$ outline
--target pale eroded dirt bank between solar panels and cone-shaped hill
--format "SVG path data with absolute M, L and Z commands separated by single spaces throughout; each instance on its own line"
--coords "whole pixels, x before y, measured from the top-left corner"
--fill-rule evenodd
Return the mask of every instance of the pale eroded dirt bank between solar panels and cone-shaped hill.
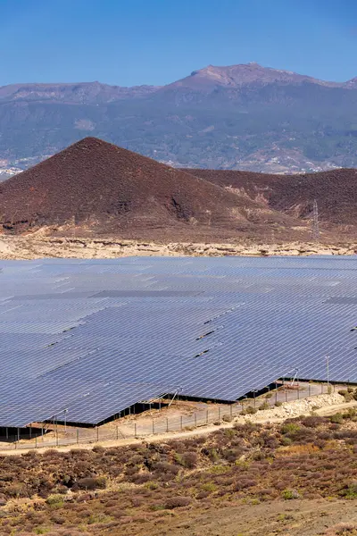
M 193 242 L 144 242 L 115 238 L 87 239 L 76 236 L 54 238 L 46 236 L 46 230 L 27 236 L 0 238 L 1 259 L 58 258 L 116 258 L 130 255 L 353 255 L 357 243 L 193 243 Z

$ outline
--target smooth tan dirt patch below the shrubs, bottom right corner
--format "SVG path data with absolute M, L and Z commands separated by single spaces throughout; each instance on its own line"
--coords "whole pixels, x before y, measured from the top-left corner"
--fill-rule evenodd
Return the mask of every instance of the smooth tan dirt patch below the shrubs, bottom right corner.
M 357 508 L 351 501 L 284 500 L 251 504 L 241 502 L 216 508 L 191 510 L 161 522 L 145 524 L 151 536 L 317 536 L 342 532 L 357 522 Z M 341 532 L 338 532 L 341 531 Z M 129 532 L 132 534 L 132 532 Z M 144 532 L 137 532 L 144 534 Z

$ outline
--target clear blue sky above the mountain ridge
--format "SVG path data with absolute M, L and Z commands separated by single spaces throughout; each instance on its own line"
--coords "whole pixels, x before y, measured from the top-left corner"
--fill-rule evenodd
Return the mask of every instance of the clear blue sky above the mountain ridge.
M 0 0 L 0 85 L 162 85 L 210 63 L 357 76 L 357 0 Z

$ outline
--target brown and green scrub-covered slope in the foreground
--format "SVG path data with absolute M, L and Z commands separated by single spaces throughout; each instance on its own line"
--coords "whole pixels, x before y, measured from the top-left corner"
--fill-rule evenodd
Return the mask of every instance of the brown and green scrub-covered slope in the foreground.
M 200 512 L 317 498 L 342 505 L 357 498 L 356 422 L 350 409 L 163 444 L 2 456 L 0 533 L 195 534 Z M 262 534 L 252 527 L 242 534 Z

